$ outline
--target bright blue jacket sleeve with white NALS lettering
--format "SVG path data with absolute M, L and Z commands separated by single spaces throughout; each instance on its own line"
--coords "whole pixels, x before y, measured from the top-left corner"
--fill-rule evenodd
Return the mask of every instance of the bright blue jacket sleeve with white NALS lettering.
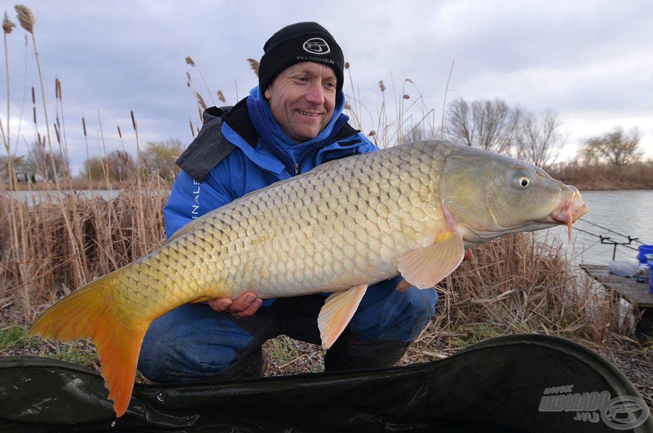
M 232 200 L 231 194 L 222 184 L 197 182 L 183 170 L 180 171 L 172 185 L 170 198 L 163 208 L 166 237 L 172 236 L 190 220 L 199 218 Z

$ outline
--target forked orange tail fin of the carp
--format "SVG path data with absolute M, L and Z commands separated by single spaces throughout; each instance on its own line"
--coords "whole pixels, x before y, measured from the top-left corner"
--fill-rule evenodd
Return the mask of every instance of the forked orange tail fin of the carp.
M 129 406 L 138 353 L 148 324 L 128 326 L 116 317 L 118 312 L 110 297 L 112 281 L 112 274 L 105 275 L 59 300 L 35 320 L 29 335 L 59 341 L 92 338 L 104 386 L 119 417 Z

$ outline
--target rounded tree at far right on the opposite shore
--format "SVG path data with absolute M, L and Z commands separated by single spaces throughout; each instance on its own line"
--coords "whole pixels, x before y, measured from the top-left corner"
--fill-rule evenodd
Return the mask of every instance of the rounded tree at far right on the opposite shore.
M 586 139 L 578 157 L 584 164 L 609 164 L 620 170 L 624 165 L 641 159 L 644 154 L 639 149 L 641 138 L 638 128 L 626 133 L 622 126 L 616 126 L 611 132 Z

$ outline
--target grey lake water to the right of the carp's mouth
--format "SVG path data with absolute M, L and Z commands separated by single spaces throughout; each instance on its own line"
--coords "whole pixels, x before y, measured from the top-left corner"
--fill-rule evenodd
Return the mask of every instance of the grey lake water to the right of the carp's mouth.
M 640 242 L 653 244 L 653 190 L 586 191 L 583 201 L 590 211 L 573 224 L 571 243 L 567 228 L 556 227 L 537 234 L 538 239 L 558 237 L 572 264 L 607 265 L 610 260 L 637 263 Z M 601 243 L 599 236 L 629 246 Z

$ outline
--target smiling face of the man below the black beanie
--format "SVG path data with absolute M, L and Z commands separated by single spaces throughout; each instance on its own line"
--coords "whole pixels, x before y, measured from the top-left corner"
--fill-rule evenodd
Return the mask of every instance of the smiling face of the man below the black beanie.
M 304 61 L 287 67 L 265 90 L 272 116 L 295 143 L 315 138 L 336 106 L 336 74 L 327 65 Z

